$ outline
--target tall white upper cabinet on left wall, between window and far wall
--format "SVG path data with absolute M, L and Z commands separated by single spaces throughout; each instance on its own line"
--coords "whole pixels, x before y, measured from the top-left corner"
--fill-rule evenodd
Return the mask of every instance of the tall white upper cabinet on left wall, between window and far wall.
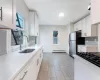
M 39 36 L 39 19 L 36 12 L 29 12 L 30 16 L 30 28 L 29 28 L 29 35 L 30 36 Z

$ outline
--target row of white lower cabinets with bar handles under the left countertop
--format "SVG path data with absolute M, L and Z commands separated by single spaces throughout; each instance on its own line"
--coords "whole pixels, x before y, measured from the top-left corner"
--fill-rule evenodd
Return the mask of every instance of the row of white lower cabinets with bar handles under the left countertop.
M 15 77 L 14 80 L 36 80 L 40 65 L 43 59 L 42 49 L 39 50 L 36 55 L 29 61 L 24 69 Z

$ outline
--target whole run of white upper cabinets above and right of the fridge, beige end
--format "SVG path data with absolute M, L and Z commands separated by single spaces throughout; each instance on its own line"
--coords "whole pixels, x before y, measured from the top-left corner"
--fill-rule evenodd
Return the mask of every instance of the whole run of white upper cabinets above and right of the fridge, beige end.
M 84 19 L 74 24 L 74 31 L 82 30 L 82 37 L 97 36 L 97 26 L 91 25 L 91 16 L 87 16 Z

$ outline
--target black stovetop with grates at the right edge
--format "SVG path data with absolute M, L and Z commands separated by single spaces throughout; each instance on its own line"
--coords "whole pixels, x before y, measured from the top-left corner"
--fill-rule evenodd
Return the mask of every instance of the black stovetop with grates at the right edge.
M 100 53 L 98 52 L 78 52 L 78 56 L 100 67 Z

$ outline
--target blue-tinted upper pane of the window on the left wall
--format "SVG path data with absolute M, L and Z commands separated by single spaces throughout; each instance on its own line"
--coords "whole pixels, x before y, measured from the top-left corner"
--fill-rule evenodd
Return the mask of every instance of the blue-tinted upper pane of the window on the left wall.
M 16 13 L 16 26 L 24 28 L 24 18 L 19 13 Z

